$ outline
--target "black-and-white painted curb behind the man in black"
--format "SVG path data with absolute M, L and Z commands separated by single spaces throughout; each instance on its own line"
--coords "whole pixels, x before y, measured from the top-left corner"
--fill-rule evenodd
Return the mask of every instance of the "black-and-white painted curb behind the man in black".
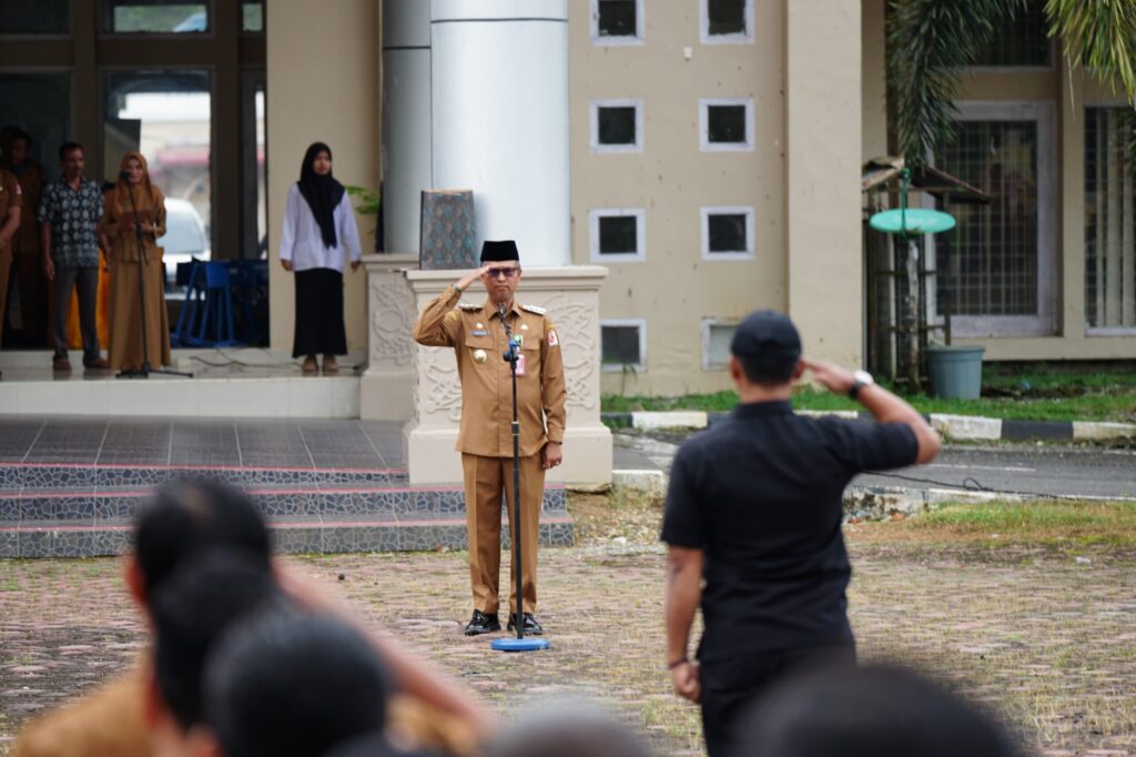
M 854 410 L 801 410 L 811 417 L 867 418 Z M 615 429 L 705 429 L 728 413 L 603 413 L 602 419 Z M 933 413 L 930 424 L 953 441 L 1136 441 L 1136 423 L 1083 421 L 1012 421 L 971 415 Z

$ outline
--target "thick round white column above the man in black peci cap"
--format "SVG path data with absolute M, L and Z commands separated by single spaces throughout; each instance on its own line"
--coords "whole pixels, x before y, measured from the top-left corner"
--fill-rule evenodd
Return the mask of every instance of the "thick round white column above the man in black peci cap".
M 474 190 L 478 247 L 568 265 L 567 0 L 432 0 L 431 101 L 433 186 Z

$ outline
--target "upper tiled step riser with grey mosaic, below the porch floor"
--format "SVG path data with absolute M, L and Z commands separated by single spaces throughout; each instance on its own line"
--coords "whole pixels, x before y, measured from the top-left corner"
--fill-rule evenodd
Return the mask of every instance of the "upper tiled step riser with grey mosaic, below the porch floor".
M 152 490 L 176 479 L 216 479 L 244 489 L 406 485 L 400 468 L 314 468 L 200 465 L 0 463 L 0 496 L 9 492 Z

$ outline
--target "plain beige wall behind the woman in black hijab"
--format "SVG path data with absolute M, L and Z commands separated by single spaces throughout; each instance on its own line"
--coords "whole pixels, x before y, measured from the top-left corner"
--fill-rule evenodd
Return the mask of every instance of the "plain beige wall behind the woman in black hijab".
M 335 0 L 335 13 L 309 0 L 273 0 L 267 34 L 268 258 L 272 348 L 292 349 L 292 274 L 279 266 L 289 186 L 312 142 L 334 153 L 344 184 L 378 186 L 379 3 Z M 318 51 L 318 52 L 314 52 Z M 373 218 L 357 217 L 364 253 L 374 250 Z M 366 274 L 343 274 L 348 349 L 367 349 Z

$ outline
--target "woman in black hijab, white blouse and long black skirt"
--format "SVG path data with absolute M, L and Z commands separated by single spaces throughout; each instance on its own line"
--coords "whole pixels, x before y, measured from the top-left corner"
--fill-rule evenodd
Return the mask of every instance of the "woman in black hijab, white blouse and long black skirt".
M 335 373 L 336 355 L 348 351 L 343 326 L 343 265 L 351 271 L 360 261 L 359 231 L 343 184 L 332 175 L 332 149 L 323 142 L 308 148 L 300 181 L 291 186 L 281 265 L 295 272 L 295 339 L 292 357 L 303 356 L 303 372 L 317 371 L 316 356 L 324 356 L 324 373 Z

